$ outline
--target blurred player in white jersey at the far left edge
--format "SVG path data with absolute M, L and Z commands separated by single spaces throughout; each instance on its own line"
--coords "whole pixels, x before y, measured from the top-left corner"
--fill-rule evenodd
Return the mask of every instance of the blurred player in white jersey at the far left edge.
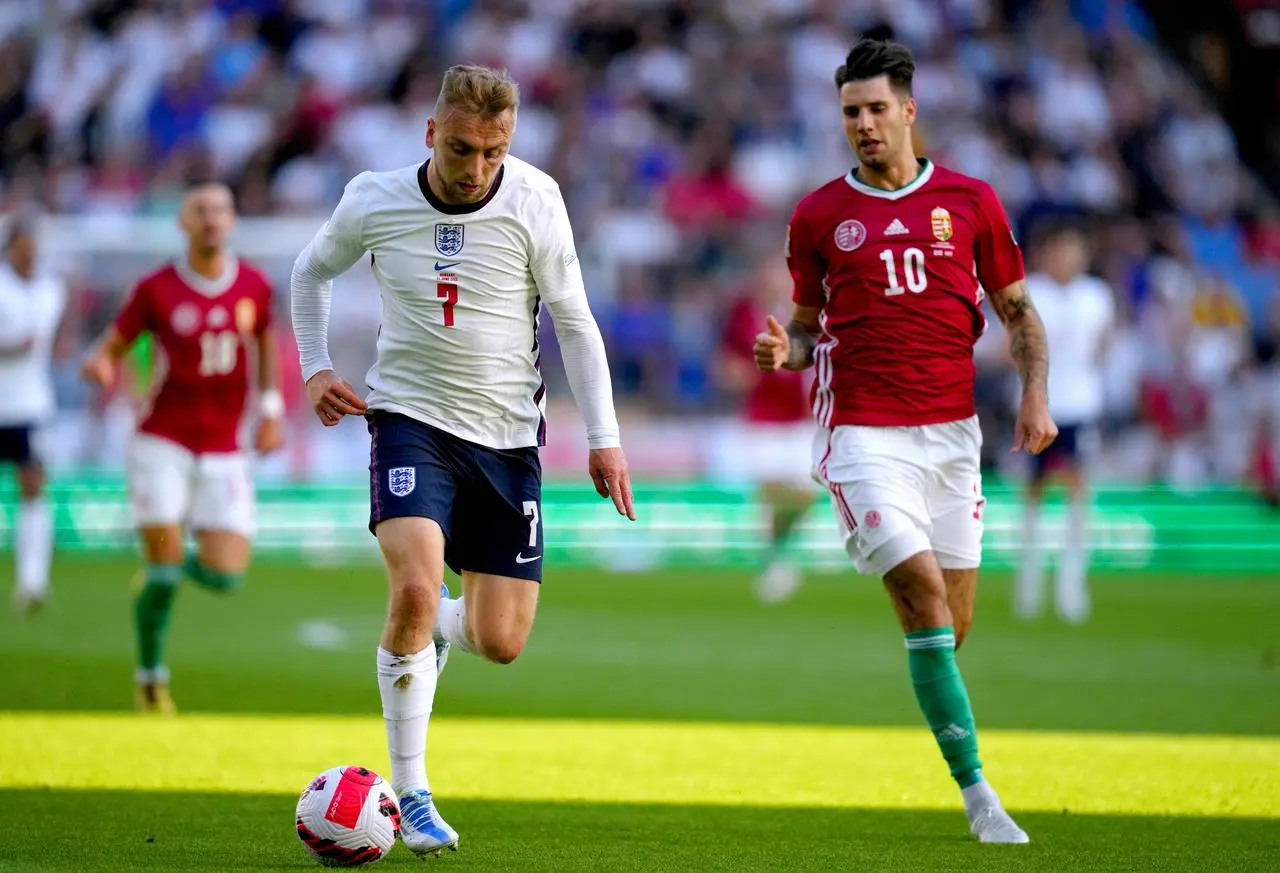
M 0 407 L 0 462 L 18 467 L 22 503 L 14 541 L 18 567 L 13 604 L 31 613 L 47 597 L 54 552 L 45 472 L 32 436 L 56 408 L 50 370 L 67 291 L 59 279 L 36 270 L 36 237 L 24 221 L 9 227 L 5 255 L 0 266 L 0 378 L 9 394 Z

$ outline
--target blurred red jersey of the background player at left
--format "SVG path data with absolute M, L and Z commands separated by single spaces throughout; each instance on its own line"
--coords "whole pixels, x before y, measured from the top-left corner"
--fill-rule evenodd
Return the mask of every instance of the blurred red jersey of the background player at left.
M 196 453 L 236 452 L 248 402 L 246 340 L 271 324 L 271 285 L 244 261 L 205 279 L 170 264 L 133 287 L 115 330 L 155 338 L 156 381 L 138 430 Z

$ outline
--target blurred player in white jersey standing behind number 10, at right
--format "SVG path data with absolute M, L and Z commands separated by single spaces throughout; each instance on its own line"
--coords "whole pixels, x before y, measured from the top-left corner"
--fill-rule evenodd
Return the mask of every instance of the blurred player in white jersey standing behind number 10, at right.
M 1115 326 L 1115 300 L 1105 282 L 1088 275 L 1089 250 L 1084 234 L 1070 223 L 1055 224 L 1043 236 L 1039 269 L 1027 278 L 1027 288 L 1039 307 L 1048 337 L 1053 369 L 1050 370 L 1050 412 L 1057 422 L 1057 440 L 1030 457 L 1027 515 L 1023 522 L 1023 557 L 1014 607 L 1023 618 L 1044 609 L 1044 544 L 1041 539 L 1041 503 L 1051 477 L 1068 486 L 1070 506 L 1062 553 L 1053 584 L 1053 605 L 1064 620 L 1079 623 L 1089 616 L 1087 470 L 1089 449 L 1097 444 L 1102 416 L 1102 364 Z

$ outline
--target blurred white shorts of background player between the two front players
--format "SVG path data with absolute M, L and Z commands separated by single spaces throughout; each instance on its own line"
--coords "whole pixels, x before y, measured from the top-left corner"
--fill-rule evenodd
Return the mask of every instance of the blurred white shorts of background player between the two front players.
M 813 430 L 800 424 L 724 425 L 709 440 L 708 467 L 730 484 L 813 488 Z

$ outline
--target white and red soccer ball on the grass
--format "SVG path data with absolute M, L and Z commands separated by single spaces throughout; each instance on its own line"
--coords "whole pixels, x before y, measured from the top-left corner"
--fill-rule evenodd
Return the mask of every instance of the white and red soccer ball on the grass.
M 364 767 L 334 767 L 298 797 L 298 838 L 325 867 L 372 864 L 396 845 L 399 804 L 392 786 Z

